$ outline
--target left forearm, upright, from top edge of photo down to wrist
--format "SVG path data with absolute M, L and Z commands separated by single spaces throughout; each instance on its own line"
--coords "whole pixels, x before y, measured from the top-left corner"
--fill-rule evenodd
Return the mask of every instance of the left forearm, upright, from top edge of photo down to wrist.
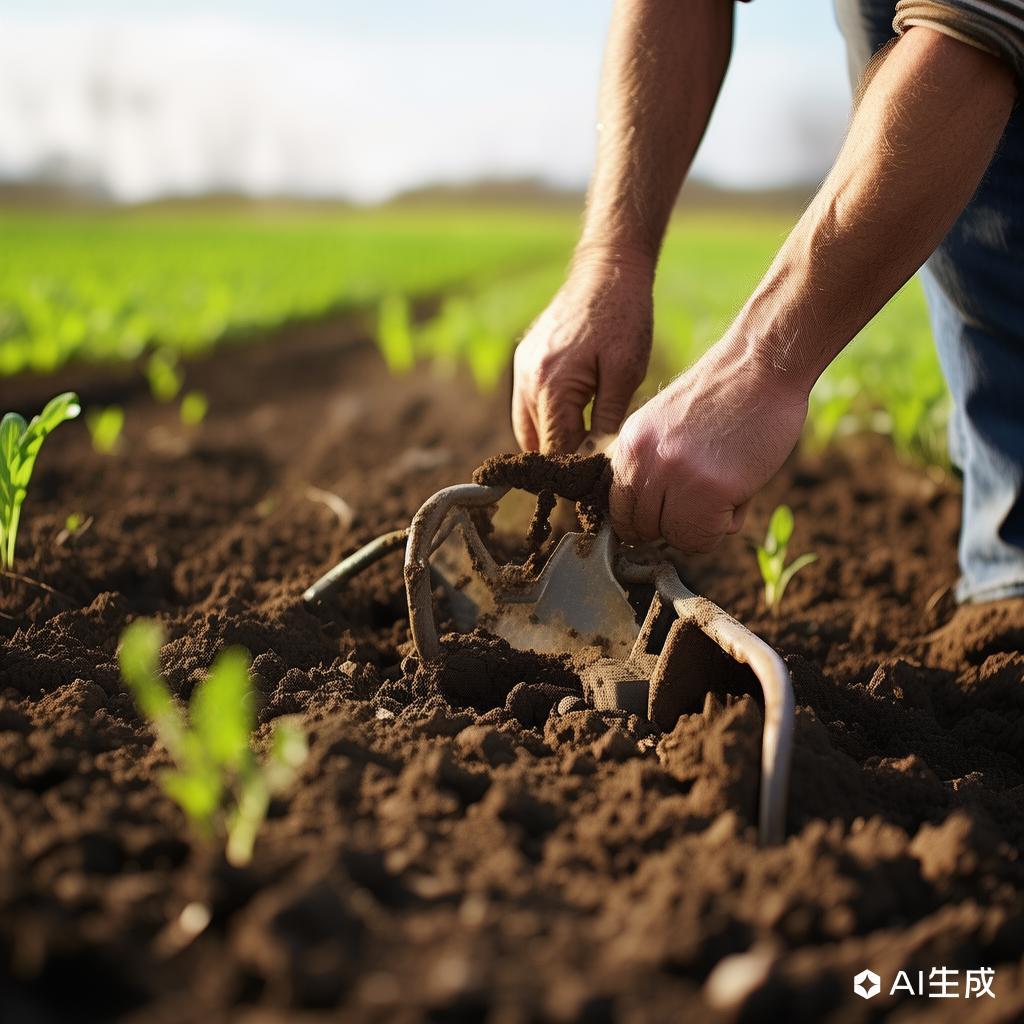
M 653 270 L 731 42 L 729 0 L 617 0 L 578 258 L 612 254 Z

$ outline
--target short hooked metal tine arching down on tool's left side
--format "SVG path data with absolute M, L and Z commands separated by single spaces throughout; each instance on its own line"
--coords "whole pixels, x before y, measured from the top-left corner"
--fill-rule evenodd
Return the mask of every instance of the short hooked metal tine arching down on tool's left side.
M 453 508 L 494 505 L 508 490 L 508 487 L 485 487 L 479 483 L 457 483 L 431 495 L 413 517 L 406 546 L 406 597 L 413 643 L 425 662 L 433 660 L 440 653 L 430 589 L 430 553 L 437 530 Z

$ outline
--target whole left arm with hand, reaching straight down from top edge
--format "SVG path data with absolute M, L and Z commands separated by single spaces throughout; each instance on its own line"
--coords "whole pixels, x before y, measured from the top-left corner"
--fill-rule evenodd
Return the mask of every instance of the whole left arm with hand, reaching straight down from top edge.
M 512 422 L 524 449 L 574 450 L 584 409 L 616 430 L 650 354 L 654 265 L 729 59 L 730 0 L 617 0 L 597 165 L 566 282 L 520 342 Z

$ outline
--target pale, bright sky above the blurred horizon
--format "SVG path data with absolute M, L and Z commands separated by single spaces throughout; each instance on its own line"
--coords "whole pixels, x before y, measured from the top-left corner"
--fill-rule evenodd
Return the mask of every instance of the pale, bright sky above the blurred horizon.
M 610 10 L 3 0 L 0 178 L 48 169 L 124 201 L 227 188 L 374 202 L 479 177 L 582 186 Z M 744 188 L 816 179 L 849 101 L 830 0 L 739 4 L 693 173 Z

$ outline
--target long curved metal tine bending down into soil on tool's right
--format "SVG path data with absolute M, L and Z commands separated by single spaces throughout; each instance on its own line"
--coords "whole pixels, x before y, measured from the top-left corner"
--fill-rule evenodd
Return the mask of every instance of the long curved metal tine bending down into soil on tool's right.
M 637 565 L 621 559 L 618 567 L 631 583 L 653 583 L 680 618 L 693 623 L 727 654 L 749 666 L 757 676 L 765 701 L 758 835 L 765 846 L 781 843 L 785 838 L 795 721 L 793 681 L 785 663 L 764 640 L 732 615 L 684 586 L 671 566 Z

